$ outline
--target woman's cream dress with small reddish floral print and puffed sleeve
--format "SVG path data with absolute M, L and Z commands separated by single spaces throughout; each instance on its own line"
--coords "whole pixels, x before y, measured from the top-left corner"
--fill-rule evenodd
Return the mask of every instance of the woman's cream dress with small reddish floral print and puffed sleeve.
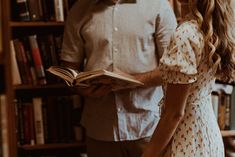
M 185 116 L 164 157 L 224 157 L 223 140 L 211 104 L 215 70 L 208 65 L 203 47 L 197 23 L 187 21 L 176 29 L 160 60 L 164 89 L 166 83 L 191 84 Z

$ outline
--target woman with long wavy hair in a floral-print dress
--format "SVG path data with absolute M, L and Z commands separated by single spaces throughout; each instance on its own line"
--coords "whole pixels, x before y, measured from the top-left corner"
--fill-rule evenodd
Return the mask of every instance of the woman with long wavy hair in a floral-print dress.
M 224 157 L 211 105 L 215 78 L 234 80 L 230 0 L 181 0 L 189 14 L 160 60 L 165 98 L 142 157 Z

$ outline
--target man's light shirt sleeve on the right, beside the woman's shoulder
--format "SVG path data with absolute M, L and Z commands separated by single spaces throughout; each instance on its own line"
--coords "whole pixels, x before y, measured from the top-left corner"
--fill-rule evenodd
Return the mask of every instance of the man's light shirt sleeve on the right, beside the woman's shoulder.
M 177 21 L 172 7 L 167 0 L 160 1 L 160 10 L 156 19 L 156 46 L 158 56 L 161 57 L 167 48 L 170 36 L 177 27 Z

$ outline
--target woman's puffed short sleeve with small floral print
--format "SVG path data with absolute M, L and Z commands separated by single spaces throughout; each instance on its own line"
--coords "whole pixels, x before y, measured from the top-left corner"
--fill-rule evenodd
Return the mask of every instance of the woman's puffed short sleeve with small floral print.
M 203 42 L 196 30 L 184 24 L 172 35 L 159 67 L 166 82 L 188 84 L 197 80 Z

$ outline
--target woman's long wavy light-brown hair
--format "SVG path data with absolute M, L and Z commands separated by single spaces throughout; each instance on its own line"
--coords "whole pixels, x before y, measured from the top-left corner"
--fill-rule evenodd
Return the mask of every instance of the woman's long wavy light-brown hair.
M 219 78 L 234 81 L 235 18 L 231 0 L 189 0 L 189 9 L 204 33 L 209 64 L 217 68 Z

